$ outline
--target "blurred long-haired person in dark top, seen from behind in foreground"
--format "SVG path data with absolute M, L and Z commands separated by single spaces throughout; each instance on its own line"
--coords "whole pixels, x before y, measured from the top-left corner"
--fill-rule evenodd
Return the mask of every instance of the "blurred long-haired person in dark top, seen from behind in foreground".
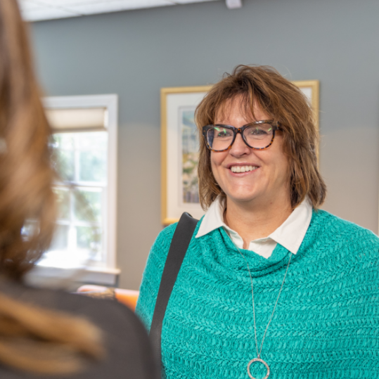
M 16 0 L 0 1 L 0 378 L 156 379 L 122 304 L 23 285 L 56 217 L 50 128 Z

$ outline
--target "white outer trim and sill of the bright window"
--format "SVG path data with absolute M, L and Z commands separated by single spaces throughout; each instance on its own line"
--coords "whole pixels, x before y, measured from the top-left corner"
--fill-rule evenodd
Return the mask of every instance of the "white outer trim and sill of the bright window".
M 89 267 L 76 281 L 84 283 L 99 283 L 117 285 L 120 269 L 116 267 L 117 238 L 117 119 L 118 96 L 116 94 L 88 96 L 51 96 L 43 98 L 44 108 L 75 109 L 75 108 L 105 108 L 105 130 L 108 131 L 108 189 L 107 189 L 107 228 L 105 266 Z M 75 131 L 75 129 L 72 129 Z M 32 283 L 43 283 L 44 278 L 67 276 L 66 269 L 58 267 L 36 266 L 32 272 Z M 39 277 L 39 278 L 37 278 Z

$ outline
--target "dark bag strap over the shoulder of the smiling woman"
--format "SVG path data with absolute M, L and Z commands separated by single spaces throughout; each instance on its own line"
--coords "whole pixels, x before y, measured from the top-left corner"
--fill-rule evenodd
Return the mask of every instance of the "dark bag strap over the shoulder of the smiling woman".
M 155 353 L 157 354 L 159 363 L 162 360 L 162 323 L 165 318 L 167 304 L 197 224 L 198 220 L 193 219 L 191 214 L 184 212 L 184 214 L 181 215 L 179 223 L 176 226 L 174 236 L 172 237 L 171 245 L 166 258 L 165 268 L 163 269 L 162 278 L 160 279 L 153 320 L 151 321 L 150 326 L 150 340 L 153 344 L 153 348 L 155 349 Z

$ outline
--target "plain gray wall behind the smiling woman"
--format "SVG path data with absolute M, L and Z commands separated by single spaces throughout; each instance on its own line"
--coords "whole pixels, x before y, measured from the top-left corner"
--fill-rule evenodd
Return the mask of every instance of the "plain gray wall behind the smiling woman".
M 49 96 L 120 96 L 117 264 L 138 289 L 160 225 L 160 87 L 217 82 L 239 64 L 321 82 L 324 209 L 378 231 L 379 1 L 245 0 L 32 25 Z M 149 136 L 149 139 L 146 138 Z

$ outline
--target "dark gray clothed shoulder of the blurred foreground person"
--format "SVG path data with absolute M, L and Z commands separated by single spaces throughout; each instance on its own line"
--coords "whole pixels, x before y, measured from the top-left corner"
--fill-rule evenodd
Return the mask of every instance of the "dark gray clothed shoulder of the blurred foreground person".
M 105 359 L 91 362 L 85 371 L 70 375 L 70 378 L 147 379 L 151 375 L 158 378 L 154 375 L 157 371 L 146 329 L 134 312 L 119 302 L 98 300 L 62 290 L 30 288 L 15 283 L 1 285 L 0 290 L 24 304 L 82 317 L 101 330 Z M 4 377 L 1 373 L 1 378 L 13 378 L 13 374 L 7 375 Z M 24 378 L 24 375 L 15 375 L 14 378 Z M 25 378 L 28 378 L 27 375 Z

